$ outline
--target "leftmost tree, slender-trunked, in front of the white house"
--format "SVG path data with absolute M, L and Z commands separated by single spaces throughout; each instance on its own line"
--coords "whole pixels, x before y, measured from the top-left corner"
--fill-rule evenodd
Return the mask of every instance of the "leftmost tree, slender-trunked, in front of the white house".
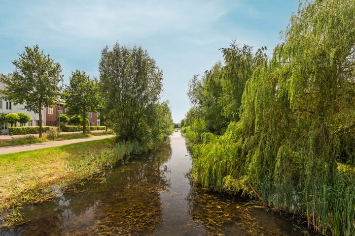
M 20 58 L 12 61 L 15 70 L 9 77 L 3 76 L 7 85 L 5 99 L 14 104 L 26 104 L 39 115 L 39 137 L 42 137 L 42 109 L 55 104 L 63 83 L 62 67 L 54 62 L 38 45 L 25 47 Z

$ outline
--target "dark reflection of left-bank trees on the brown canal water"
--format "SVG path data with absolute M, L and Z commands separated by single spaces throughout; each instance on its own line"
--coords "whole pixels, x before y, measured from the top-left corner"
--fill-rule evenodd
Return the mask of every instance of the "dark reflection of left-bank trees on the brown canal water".
M 164 163 L 171 153 L 170 143 L 166 144 L 155 153 L 141 155 L 112 170 L 106 174 L 106 183 L 89 183 L 78 189 L 82 191 L 79 194 L 65 194 L 59 201 L 44 204 L 52 209 L 51 214 L 24 225 L 21 232 L 141 235 L 153 231 L 162 221 L 159 193 L 170 187 Z

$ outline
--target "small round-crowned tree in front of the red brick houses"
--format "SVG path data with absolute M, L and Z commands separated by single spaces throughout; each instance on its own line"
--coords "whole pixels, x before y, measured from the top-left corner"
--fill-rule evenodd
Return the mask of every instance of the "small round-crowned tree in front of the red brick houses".
M 80 115 L 83 118 L 83 133 L 87 113 L 96 112 L 98 109 L 97 88 L 96 79 L 90 79 L 84 71 L 75 70 L 71 72 L 69 86 L 66 86 L 63 92 L 66 107 L 69 108 L 68 114 Z

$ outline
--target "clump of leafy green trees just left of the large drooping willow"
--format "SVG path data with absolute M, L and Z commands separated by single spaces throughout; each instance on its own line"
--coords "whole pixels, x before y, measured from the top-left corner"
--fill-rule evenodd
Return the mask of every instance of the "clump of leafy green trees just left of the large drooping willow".
M 229 122 L 240 119 L 242 94 L 253 70 L 267 61 L 266 47 L 252 52 L 252 47 L 239 48 L 235 40 L 229 48 L 221 48 L 224 65 L 217 62 L 200 79 L 195 75 L 187 95 L 192 108 L 186 115 L 193 140 L 201 141 L 203 132 L 224 134 Z

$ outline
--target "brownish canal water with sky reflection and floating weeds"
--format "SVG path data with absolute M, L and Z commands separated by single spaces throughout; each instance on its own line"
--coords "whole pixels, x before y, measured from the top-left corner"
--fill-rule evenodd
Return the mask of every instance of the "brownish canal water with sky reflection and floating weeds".
M 213 194 L 190 182 L 180 131 L 157 152 L 25 209 L 26 224 L 1 236 L 303 236 L 278 212 Z M 308 234 L 308 233 L 306 233 Z

